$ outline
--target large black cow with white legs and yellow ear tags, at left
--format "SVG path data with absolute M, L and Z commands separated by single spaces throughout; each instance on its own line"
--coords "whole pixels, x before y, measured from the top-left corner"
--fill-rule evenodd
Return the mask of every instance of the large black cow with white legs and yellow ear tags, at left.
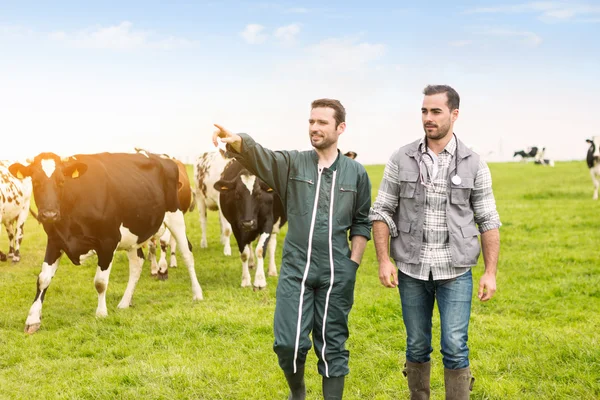
M 129 307 L 144 261 L 140 247 L 163 222 L 183 254 L 193 299 L 202 299 L 194 257 L 186 246 L 177 198 L 179 172 L 172 160 L 153 154 L 82 154 L 61 159 L 53 153 L 41 153 L 31 164 L 16 163 L 9 170 L 20 179 L 31 177 L 39 221 L 48 235 L 25 332 L 33 333 L 41 325 L 46 290 L 63 254 L 75 265 L 92 252 L 98 255 L 96 316 L 104 317 L 108 315 L 106 290 L 114 253 L 127 251 L 129 282 L 118 307 Z

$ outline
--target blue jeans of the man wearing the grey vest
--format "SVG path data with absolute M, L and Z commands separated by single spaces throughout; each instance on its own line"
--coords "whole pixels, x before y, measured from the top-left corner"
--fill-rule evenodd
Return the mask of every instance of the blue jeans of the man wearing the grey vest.
M 454 278 L 428 281 L 411 278 L 398 271 L 398 290 L 402 302 L 402 318 L 406 327 L 406 359 L 414 363 L 430 360 L 431 317 L 437 299 L 442 328 L 441 351 L 444 367 L 460 369 L 469 366 L 469 319 L 473 278 L 471 270 Z

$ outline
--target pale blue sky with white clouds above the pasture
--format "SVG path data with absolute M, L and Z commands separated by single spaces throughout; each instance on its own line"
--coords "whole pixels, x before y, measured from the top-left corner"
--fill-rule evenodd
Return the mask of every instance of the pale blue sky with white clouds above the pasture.
M 309 148 L 338 98 L 342 150 L 385 163 L 423 134 L 422 89 L 461 95 L 490 161 L 582 159 L 600 100 L 600 1 L 0 2 L 0 158 L 131 151 L 191 161 L 212 123 Z

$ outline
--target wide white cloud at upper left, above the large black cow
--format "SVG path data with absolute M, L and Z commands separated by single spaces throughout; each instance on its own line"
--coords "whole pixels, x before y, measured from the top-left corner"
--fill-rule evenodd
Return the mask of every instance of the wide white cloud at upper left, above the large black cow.
M 195 44 L 195 42 L 184 38 L 174 36 L 159 38 L 150 31 L 135 30 L 133 24 L 129 21 L 123 21 L 118 25 L 109 27 L 96 26 L 74 33 L 52 32 L 49 34 L 49 38 L 78 48 L 109 50 L 138 50 L 144 48 L 170 50 L 190 47 Z

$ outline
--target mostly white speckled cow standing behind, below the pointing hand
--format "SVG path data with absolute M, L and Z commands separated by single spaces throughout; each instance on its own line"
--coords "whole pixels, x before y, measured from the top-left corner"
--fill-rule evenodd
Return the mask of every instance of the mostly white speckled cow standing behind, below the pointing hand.
M 220 193 L 214 185 L 225 170 L 225 167 L 233 159 L 226 158 L 224 152 L 213 151 L 200 155 L 196 160 L 194 167 L 194 180 L 196 181 L 196 203 L 200 213 L 200 229 L 202 239 L 200 247 L 208 247 L 206 241 L 206 210 L 219 211 L 219 222 L 221 225 L 221 244 L 223 245 L 223 254 L 231 255 L 231 224 L 227 221 L 219 207 Z

